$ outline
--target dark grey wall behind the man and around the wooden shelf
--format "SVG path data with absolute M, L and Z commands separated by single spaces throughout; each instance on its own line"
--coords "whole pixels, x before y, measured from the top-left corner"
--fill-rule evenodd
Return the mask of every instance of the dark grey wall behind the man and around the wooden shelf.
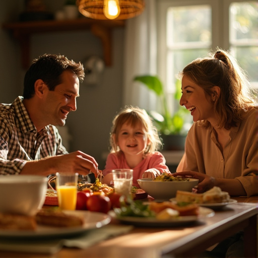
M 15 21 L 23 10 L 23 1 L 16 0 L 19 8 L 15 9 L 12 2 L 3 2 L 0 4 L 1 23 Z M 61 6 L 60 1 L 45 1 L 46 4 L 48 2 L 54 11 Z M 105 161 L 101 159 L 101 154 L 108 151 L 112 118 L 122 106 L 123 41 L 124 29 L 114 29 L 112 66 L 105 68 L 98 85 L 81 84 L 77 111 L 71 112 L 67 119 L 72 135 L 70 151 L 81 150 L 93 156 L 99 163 L 99 169 L 104 168 Z M 0 102 L 10 103 L 22 94 L 26 71 L 20 66 L 20 47 L 11 34 L 1 30 L 0 42 Z M 31 60 L 43 53 L 60 53 L 75 61 L 83 61 L 90 55 L 103 56 L 100 39 L 90 31 L 34 34 L 31 37 Z

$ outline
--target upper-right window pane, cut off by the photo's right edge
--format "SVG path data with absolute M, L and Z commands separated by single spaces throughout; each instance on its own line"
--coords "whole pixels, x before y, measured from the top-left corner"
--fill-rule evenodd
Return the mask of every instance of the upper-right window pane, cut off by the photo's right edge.
M 230 41 L 258 38 L 258 3 L 243 2 L 230 5 Z

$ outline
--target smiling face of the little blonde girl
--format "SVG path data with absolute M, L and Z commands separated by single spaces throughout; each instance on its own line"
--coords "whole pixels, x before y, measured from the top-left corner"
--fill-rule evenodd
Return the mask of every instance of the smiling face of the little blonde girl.
M 124 123 L 118 133 L 117 145 L 124 155 L 143 155 L 149 143 L 141 124 Z

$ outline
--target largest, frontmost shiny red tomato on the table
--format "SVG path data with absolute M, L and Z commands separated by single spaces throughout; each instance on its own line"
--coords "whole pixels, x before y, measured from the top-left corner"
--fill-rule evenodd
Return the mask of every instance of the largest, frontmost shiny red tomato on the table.
M 110 199 L 104 195 L 91 195 L 86 204 L 88 211 L 92 212 L 107 213 L 111 209 Z

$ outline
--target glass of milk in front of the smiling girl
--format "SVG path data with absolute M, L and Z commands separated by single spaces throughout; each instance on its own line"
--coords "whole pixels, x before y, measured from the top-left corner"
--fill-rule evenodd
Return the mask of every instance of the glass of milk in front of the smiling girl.
M 113 169 L 113 183 L 115 192 L 119 195 L 128 196 L 132 193 L 133 169 Z

